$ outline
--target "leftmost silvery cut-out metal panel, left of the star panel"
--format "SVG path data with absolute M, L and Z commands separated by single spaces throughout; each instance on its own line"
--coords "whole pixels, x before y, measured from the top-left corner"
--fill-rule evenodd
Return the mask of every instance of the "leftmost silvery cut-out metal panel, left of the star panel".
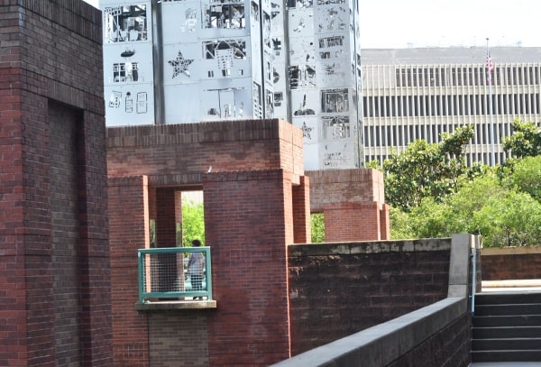
M 102 15 L 106 124 L 153 124 L 151 3 L 102 1 Z

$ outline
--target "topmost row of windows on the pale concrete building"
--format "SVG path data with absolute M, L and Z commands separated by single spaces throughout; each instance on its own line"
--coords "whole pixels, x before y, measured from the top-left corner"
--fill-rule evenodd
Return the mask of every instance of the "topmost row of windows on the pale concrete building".
M 484 86 L 487 69 L 470 67 L 406 67 L 397 68 L 397 87 Z M 539 84 L 539 66 L 501 66 L 492 71 L 492 84 L 497 86 L 534 86 Z

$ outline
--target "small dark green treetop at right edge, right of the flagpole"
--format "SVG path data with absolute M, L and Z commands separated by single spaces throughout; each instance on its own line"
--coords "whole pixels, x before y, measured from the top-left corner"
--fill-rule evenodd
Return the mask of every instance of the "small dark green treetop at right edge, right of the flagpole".
M 513 134 L 503 139 L 504 151 L 510 151 L 518 158 L 541 154 L 541 127 L 518 119 L 513 121 L 512 127 Z

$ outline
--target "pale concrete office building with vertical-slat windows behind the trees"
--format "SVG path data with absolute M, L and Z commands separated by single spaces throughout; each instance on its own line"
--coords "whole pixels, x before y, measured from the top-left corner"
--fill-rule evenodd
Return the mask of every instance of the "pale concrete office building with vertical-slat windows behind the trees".
M 541 48 L 490 51 L 491 85 L 485 48 L 362 50 L 364 161 L 382 162 L 417 139 L 438 142 L 467 124 L 475 129 L 468 164 L 492 165 L 492 149 L 496 163 L 505 161 L 502 139 L 513 120 L 540 119 Z

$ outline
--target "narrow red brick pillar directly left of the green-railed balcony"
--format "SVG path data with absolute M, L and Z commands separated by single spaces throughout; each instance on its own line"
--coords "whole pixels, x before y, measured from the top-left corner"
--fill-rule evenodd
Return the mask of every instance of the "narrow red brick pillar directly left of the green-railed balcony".
M 150 246 L 146 176 L 109 177 L 109 236 L 115 366 L 148 366 L 147 317 L 137 302 L 137 250 Z

